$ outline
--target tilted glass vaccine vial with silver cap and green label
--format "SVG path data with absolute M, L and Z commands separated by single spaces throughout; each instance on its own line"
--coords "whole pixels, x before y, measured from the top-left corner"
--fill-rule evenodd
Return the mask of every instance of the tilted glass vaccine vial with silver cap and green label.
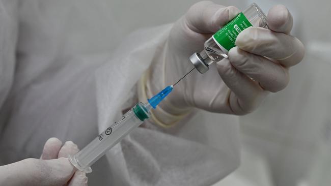
M 242 30 L 250 26 L 266 28 L 267 25 L 266 15 L 253 3 L 219 29 L 205 42 L 204 50 L 192 54 L 189 60 L 203 74 L 209 70 L 209 65 L 228 57 L 229 50 L 236 46 L 236 38 Z

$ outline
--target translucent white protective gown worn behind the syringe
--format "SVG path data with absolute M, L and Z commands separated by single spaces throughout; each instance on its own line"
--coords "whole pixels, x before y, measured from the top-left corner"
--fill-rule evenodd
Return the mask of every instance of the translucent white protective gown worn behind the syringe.
M 136 101 L 172 25 L 123 36 L 105 2 L 0 1 L 2 165 L 39 158 L 50 137 L 83 148 Z M 210 185 L 239 165 L 237 116 L 145 126 L 92 166 L 90 185 Z

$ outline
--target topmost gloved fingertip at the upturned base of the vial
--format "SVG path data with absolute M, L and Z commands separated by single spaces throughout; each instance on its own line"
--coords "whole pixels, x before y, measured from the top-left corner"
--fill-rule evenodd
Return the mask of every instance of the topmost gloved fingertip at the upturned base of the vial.
M 288 34 L 293 26 L 293 17 L 284 5 L 276 5 L 268 12 L 268 27 L 275 32 Z

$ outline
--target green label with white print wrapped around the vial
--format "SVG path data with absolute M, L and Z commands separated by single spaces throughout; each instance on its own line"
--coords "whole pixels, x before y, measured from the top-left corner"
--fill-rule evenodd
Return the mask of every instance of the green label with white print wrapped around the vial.
M 213 35 L 213 39 L 220 49 L 228 53 L 231 48 L 236 46 L 236 39 L 239 33 L 250 26 L 253 25 L 241 12 L 223 28 L 218 30 Z

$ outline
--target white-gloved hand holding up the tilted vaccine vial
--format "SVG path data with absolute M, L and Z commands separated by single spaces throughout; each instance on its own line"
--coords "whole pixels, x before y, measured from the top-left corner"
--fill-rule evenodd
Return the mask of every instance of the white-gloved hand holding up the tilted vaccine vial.
M 166 46 L 151 66 L 151 91 L 161 89 L 157 84 L 175 83 L 191 70 L 188 57 L 202 51 L 204 42 L 238 13 L 235 7 L 207 1 L 193 5 L 174 24 Z M 229 51 L 229 58 L 218 61 L 216 68 L 211 67 L 205 74 L 191 72 L 160 105 L 162 109 L 172 113 L 173 108 L 180 111 L 197 107 L 241 115 L 257 108 L 268 92 L 284 89 L 289 82 L 289 67 L 302 60 L 305 49 L 289 34 L 293 18 L 284 6 L 271 8 L 267 18 L 269 29 L 243 30 L 237 37 L 237 47 Z M 164 82 L 153 82 L 160 79 L 162 71 Z

